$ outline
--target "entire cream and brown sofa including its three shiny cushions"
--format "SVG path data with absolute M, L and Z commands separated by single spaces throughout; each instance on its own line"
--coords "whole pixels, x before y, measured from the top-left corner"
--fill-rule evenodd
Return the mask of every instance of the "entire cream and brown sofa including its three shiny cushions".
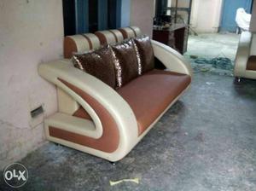
M 58 112 L 44 120 L 49 141 L 117 161 L 188 90 L 183 56 L 140 36 L 136 26 L 68 36 L 66 59 L 39 66 L 57 87 Z M 167 70 L 154 69 L 154 57 Z

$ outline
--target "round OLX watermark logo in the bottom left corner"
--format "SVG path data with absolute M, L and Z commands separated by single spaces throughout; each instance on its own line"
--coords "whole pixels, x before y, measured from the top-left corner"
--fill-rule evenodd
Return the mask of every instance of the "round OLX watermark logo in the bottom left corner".
M 12 188 L 22 187 L 28 179 L 28 171 L 26 167 L 20 163 L 13 163 L 3 171 L 4 181 Z

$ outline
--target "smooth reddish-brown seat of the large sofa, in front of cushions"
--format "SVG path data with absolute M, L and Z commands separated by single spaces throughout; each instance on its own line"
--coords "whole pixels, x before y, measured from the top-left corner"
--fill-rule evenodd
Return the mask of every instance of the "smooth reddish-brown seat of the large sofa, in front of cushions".
M 190 81 L 189 75 L 153 70 L 117 90 L 137 118 L 139 135 L 188 87 Z

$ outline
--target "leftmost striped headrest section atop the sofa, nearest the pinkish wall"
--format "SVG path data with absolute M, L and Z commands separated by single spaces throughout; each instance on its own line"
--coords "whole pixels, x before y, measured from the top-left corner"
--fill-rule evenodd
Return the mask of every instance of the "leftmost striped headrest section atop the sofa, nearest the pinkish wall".
M 95 34 L 86 33 L 64 38 L 64 58 L 71 58 L 73 52 L 84 52 L 101 46 Z

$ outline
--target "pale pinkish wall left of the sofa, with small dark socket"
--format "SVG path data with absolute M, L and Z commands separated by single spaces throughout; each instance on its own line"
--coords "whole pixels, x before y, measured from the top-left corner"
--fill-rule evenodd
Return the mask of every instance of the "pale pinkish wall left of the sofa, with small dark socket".
M 44 142 L 43 116 L 32 120 L 30 111 L 57 110 L 55 87 L 38 76 L 38 64 L 62 55 L 61 2 L 0 1 L 0 168 Z

